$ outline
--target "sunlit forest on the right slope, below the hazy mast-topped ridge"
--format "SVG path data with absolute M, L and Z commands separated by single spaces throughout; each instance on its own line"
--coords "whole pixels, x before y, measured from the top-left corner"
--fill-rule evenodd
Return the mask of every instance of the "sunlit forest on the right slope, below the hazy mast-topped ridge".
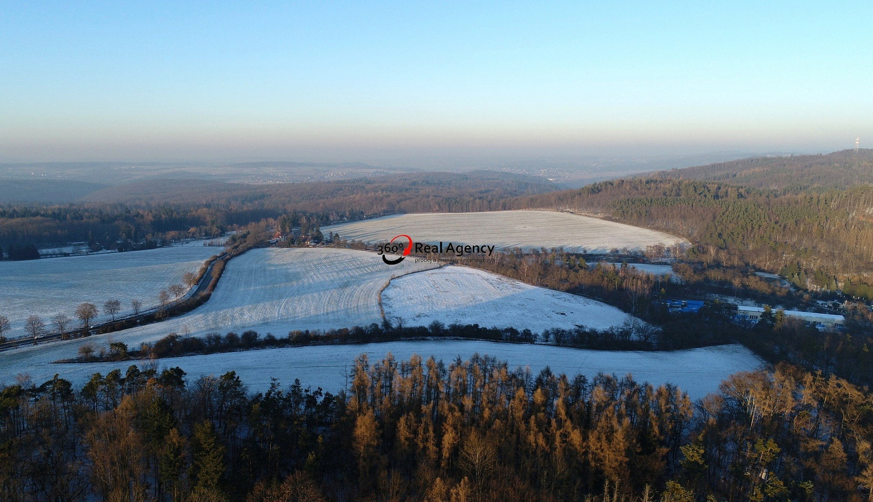
M 722 182 L 634 178 L 521 197 L 513 209 L 572 210 L 683 236 L 691 262 L 779 272 L 798 265 L 812 289 L 869 282 L 873 187 L 779 195 Z

